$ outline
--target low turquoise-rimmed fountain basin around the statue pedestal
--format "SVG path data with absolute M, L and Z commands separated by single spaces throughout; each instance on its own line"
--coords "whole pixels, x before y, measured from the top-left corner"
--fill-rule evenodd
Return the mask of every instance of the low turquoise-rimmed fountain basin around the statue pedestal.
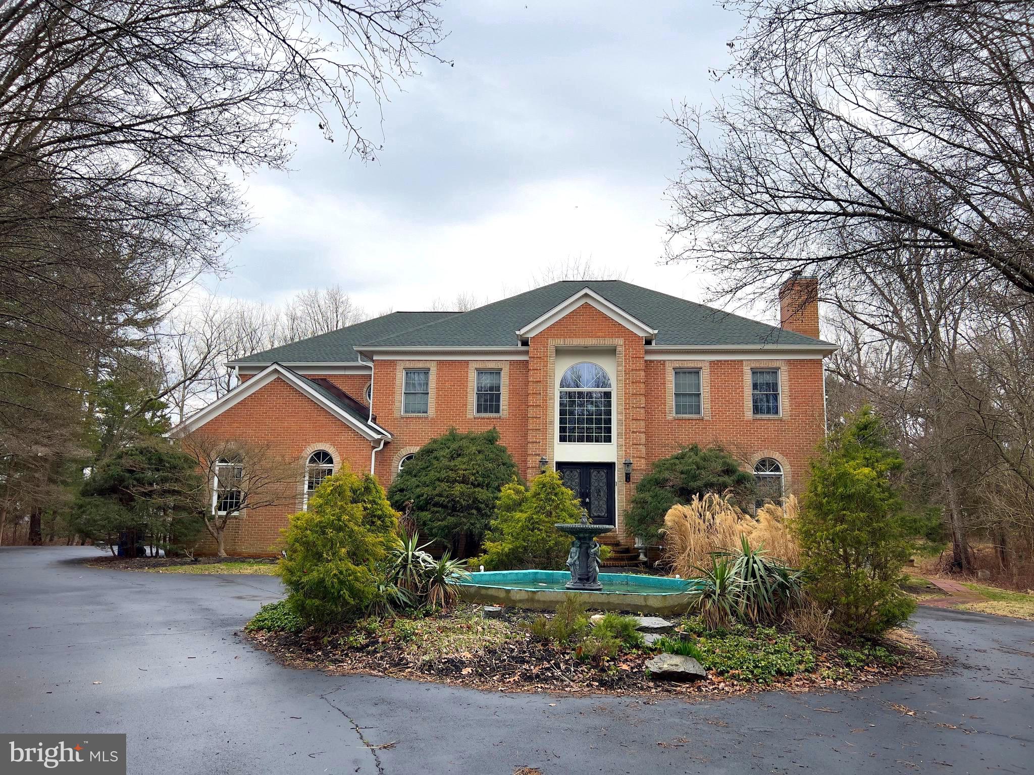
M 490 606 L 553 611 L 565 595 L 579 595 L 590 609 L 680 614 L 695 579 L 669 579 L 638 574 L 600 574 L 599 592 L 565 589 L 571 574 L 564 570 L 486 570 L 460 583 L 460 597 Z

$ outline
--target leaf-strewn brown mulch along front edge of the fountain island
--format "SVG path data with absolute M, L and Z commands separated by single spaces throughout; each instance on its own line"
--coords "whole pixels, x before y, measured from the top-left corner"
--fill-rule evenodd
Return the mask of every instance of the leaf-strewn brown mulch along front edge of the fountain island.
M 506 619 L 517 630 L 522 622 L 535 615 L 508 609 Z M 884 644 L 902 657 L 900 665 L 855 669 L 850 680 L 822 678 L 823 669 L 846 665 L 835 653 L 837 646 L 823 649 L 813 644 L 818 661 L 815 673 L 778 677 L 772 683 L 761 684 L 710 672 L 706 680 L 674 683 L 646 676 L 643 665 L 653 653 L 625 654 L 606 668 L 599 668 L 575 659 L 570 649 L 554 647 L 528 634 L 517 634 L 484 651 L 422 659 L 412 647 L 394 640 L 390 624 L 385 625 L 383 632 L 367 637 L 361 646 L 347 645 L 345 639 L 349 633 L 355 639 L 356 632 L 358 630 L 345 630 L 330 637 L 314 634 L 311 630 L 300 634 L 265 631 L 235 634 L 247 638 L 284 665 L 321 670 L 327 675 L 390 676 L 492 691 L 648 694 L 687 700 L 773 689 L 854 691 L 903 676 L 929 675 L 943 664 L 933 649 L 914 636 L 906 634 L 905 640 L 910 645 Z

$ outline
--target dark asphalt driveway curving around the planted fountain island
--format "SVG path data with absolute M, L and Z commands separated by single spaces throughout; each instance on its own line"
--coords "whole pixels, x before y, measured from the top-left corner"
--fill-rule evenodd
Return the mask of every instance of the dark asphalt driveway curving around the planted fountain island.
M 126 733 L 133 773 L 961 775 L 1034 762 L 1031 622 L 922 609 L 916 630 L 954 665 L 856 693 L 483 693 L 281 668 L 234 636 L 280 595 L 276 578 L 78 562 L 95 553 L 0 549 L 0 731 Z

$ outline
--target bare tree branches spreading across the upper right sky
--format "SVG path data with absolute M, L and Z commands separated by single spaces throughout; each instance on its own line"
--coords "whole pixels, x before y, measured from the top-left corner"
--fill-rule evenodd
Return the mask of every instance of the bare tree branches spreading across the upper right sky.
M 738 0 L 731 81 L 670 116 L 671 259 L 766 292 L 893 257 L 1034 292 L 1034 18 L 1023 0 Z

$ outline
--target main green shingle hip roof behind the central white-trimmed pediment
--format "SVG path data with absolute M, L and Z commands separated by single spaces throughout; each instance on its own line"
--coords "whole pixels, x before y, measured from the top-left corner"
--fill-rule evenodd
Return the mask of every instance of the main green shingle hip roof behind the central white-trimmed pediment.
M 469 312 L 379 337 L 372 347 L 508 347 L 519 345 L 516 332 L 584 287 L 658 331 L 657 346 L 816 346 L 819 339 L 777 326 L 661 293 L 622 280 L 564 280 L 504 299 Z

